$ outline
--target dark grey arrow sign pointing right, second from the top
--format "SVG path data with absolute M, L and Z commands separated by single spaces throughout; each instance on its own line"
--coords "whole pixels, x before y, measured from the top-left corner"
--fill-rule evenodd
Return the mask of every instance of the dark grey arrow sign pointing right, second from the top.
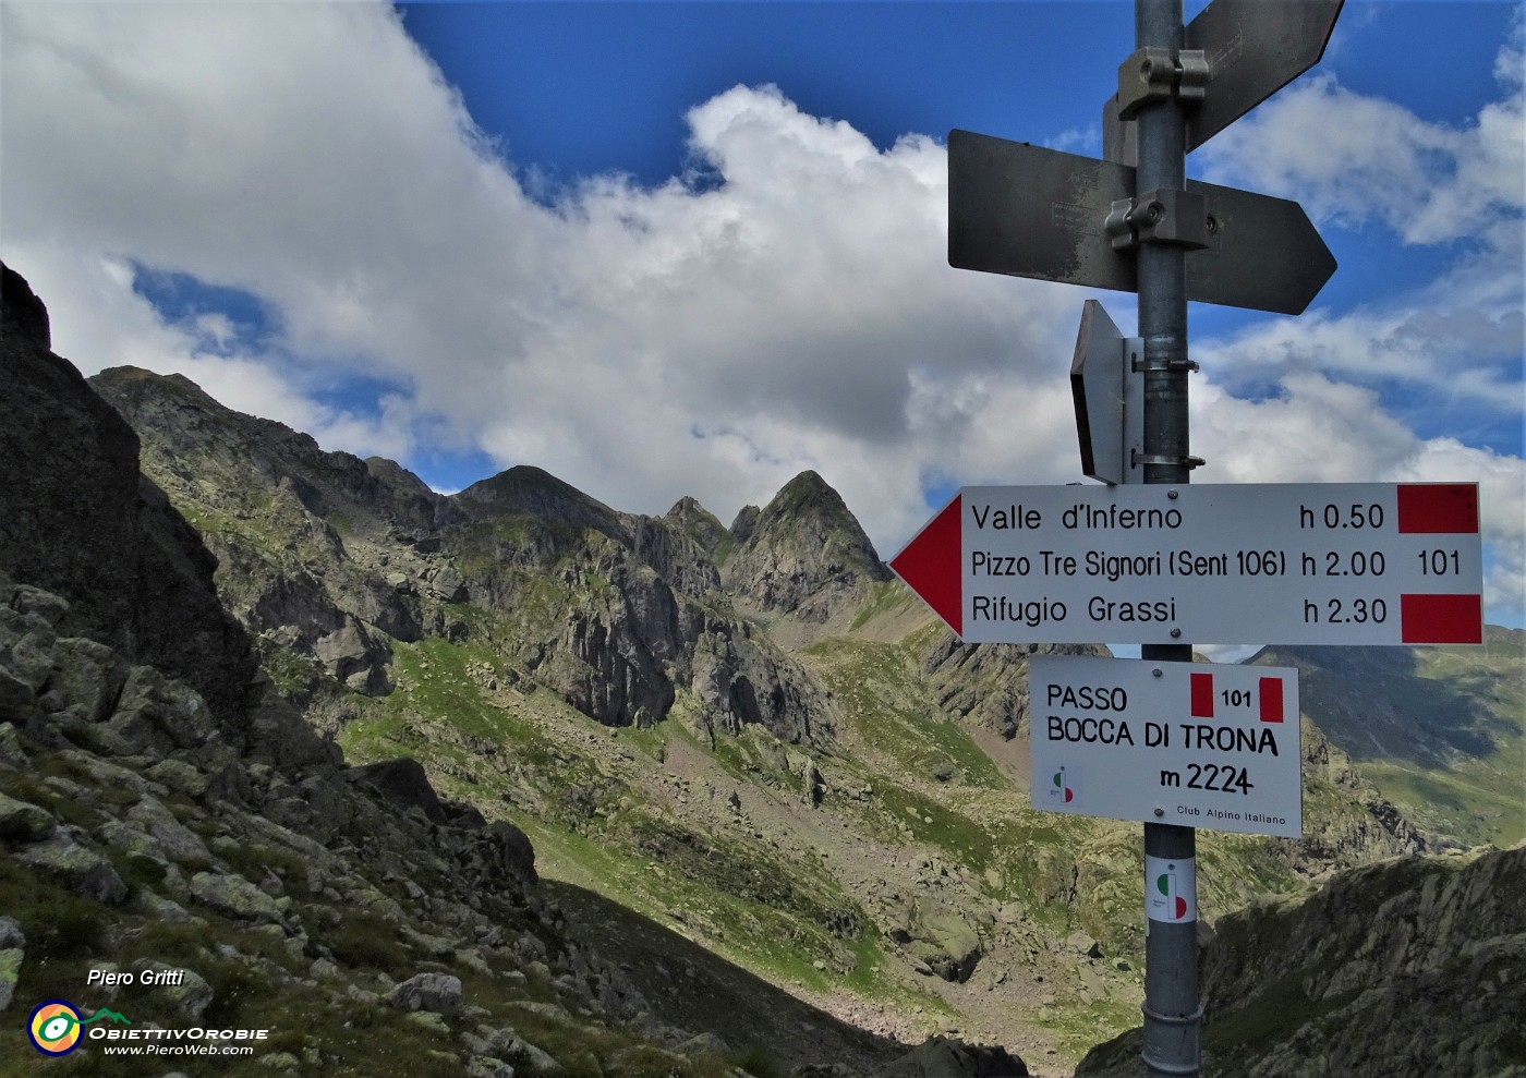
M 1335 272 L 1303 208 L 1286 198 L 1187 180 L 1207 198 L 1213 243 L 1187 252 L 1187 299 L 1297 315 Z M 1132 252 L 1103 223 L 1134 197 L 1134 169 L 949 131 L 949 266 L 1138 292 Z

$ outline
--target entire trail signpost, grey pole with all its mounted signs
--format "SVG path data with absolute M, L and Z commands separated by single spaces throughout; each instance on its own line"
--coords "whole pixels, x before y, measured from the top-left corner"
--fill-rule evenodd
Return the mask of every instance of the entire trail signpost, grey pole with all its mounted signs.
M 1474 484 L 1189 486 L 1187 301 L 1297 315 L 1335 260 L 1297 203 L 1189 180 L 1186 156 L 1318 63 L 1341 3 L 1213 0 L 1184 27 L 1181 0 L 1135 0 L 1106 160 L 949 133 L 949 266 L 1138 293 L 1132 341 L 1088 304 L 1071 389 L 1087 475 L 1143 486 L 971 487 L 891 568 L 969 643 L 1141 644 L 1132 673 L 1035 658 L 1032 744 L 1035 805 L 1144 820 L 1146 1078 L 1201 1066 L 1192 825 L 1302 823 L 1291 672 L 1230 684 L 1186 641 L 1482 641 Z M 1140 707 L 1144 759 L 1120 748 Z

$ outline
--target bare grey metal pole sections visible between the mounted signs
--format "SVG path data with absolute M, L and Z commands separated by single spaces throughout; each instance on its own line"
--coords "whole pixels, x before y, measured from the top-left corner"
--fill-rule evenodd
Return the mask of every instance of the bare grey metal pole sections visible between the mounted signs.
M 1181 0 L 1135 0 L 1134 37 L 1140 52 L 1167 49 L 1175 63 L 1183 47 Z M 1135 53 L 1138 55 L 1138 53 Z M 1146 61 L 1148 63 L 1148 61 Z M 1187 186 L 1186 118 L 1177 95 L 1138 110 L 1135 194 L 1184 191 Z M 1144 353 L 1144 483 L 1192 481 L 1187 432 L 1187 284 L 1186 247 L 1138 246 L 1138 334 Z M 1192 644 L 1144 644 L 1146 661 L 1190 663 Z M 1144 919 L 1146 1078 L 1196 1076 L 1198 1032 L 1196 832 L 1164 823 L 1144 825 L 1146 863 L 1175 866 L 1178 886 L 1190 889 L 1189 921 Z M 1146 887 L 1152 881 L 1146 881 Z M 1148 901 L 1148 899 L 1146 899 Z

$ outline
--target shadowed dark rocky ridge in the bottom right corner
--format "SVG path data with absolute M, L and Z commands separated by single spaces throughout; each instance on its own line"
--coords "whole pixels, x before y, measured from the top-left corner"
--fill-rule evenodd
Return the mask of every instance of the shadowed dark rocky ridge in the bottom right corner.
M 1520 1078 L 1526 846 L 1404 857 L 1221 918 L 1202 953 L 1206 1072 Z M 1138 1032 L 1079 1075 L 1137 1073 Z

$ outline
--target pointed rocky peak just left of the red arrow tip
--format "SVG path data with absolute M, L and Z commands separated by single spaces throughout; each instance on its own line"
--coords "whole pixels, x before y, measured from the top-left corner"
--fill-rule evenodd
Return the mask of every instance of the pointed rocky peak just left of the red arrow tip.
M 891 579 L 841 495 L 816 472 L 801 472 L 761 512 L 732 525 L 736 547 L 722 579 L 743 609 L 821 625 Z

